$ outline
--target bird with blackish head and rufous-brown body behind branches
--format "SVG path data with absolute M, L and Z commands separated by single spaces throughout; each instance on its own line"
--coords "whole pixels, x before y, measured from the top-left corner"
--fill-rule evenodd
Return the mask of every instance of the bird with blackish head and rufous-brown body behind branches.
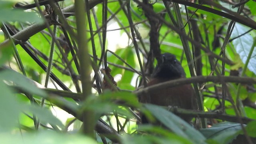
M 158 62 L 152 73 L 152 78 L 147 86 L 153 86 L 169 80 L 186 78 L 184 68 L 176 59 L 174 54 L 164 53 L 161 55 L 162 62 Z M 149 90 L 144 96 L 140 97 L 141 103 L 150 103 L 158 106 L 171 106 L 190 110 L 198 109 L 196 104 L 196 96 L 191 84 L 175 86 L 170 88 L 159 88 L 157 90 Z M 180 116 L 186 122 L 190 122 L 192 118 Z M 142 114 L 142 124 L 148 123 L 146 117 Z

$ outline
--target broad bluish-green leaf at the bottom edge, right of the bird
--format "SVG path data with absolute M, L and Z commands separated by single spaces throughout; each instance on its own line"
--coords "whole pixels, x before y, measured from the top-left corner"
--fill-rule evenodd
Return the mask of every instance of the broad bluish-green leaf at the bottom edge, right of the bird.
M 219 144 L 228 144 L 241 133 L 241 130 L 241 124 L 239 123 L 222 122 L 210 128 L 201 129 L 200 132 L 204 134 L 207 139 L 212 139 Z

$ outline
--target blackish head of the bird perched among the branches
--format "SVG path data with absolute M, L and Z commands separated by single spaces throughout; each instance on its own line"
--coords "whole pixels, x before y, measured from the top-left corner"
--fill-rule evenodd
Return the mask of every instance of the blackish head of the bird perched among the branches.
M 164 53 L 162 54 L 162 63 L 156 65 L 152 76 L 153 78 L 175 79 L 186 77 L 186 74 L 175 55 Z

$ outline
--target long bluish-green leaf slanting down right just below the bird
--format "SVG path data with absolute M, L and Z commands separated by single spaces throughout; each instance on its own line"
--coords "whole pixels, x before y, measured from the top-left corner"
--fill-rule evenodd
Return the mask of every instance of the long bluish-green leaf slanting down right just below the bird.
M 206 138 L 180 117 L 160 106 L 145 104 L 145 107 L 157 118 L 157 120 L 172 130 L 175 134 L 188 138 L 196 144 L 205 144 Z

